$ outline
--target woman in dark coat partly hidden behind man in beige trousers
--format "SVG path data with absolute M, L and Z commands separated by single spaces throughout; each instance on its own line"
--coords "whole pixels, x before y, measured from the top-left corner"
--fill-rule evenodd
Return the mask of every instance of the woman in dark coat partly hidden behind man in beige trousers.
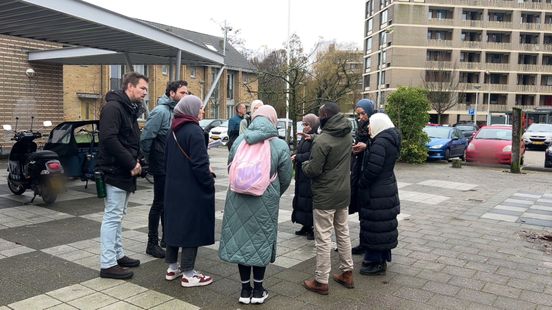
M 301 166 L 304 161 L 309 160 L 312 135 L 316 134 L 319 126 L 318 116 L 307 114 L 303 117 L 303 138 L 297 144 L 297 152 L 291 157 L 295 166 L 295 196 L 293 196 L 291 221 L 303 225 L 295 234 L 299 236 L 306 235 L 308 240 L 314 240 L 311 180 L 305 176 Z

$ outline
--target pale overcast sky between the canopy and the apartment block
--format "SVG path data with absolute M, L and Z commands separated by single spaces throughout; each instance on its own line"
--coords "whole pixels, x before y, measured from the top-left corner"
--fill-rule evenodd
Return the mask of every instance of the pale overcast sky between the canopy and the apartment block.
M 246 48 L 256 51 L 283 47 L 287 37 L 288 1 L 265 0 L 85 0 L 117 13 L 221 36 L 219 24 L 228 23 Z M 291 33 L 297 33 L 305 51 L 316 42 L 362 46 L 363 0 L 291 0 Z

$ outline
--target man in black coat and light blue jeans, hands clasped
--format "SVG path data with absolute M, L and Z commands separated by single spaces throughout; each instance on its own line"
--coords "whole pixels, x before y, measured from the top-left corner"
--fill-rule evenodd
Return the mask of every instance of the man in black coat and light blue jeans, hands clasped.
M 148 94 L 148 78 L 136 72 L 123 77 L 123 89 L 106 94 L 100 114 L 100 150 L 98 170 L 104 174 L 105 210 L 100 232 L 100 277 L 128 279 L 127 267 L 138 267 L 140 261 L 125 256 L 122 245 L 122 220 L 128 198 L 136 191 L 140 175 L 140 129 L 138 116 Z

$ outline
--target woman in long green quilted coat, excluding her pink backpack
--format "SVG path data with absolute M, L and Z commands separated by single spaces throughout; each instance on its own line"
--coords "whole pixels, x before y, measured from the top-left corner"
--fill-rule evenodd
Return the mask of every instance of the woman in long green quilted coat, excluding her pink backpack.
M 263 288 L 264 273 L 266 266 L 276 260 L 280 196 L 291 182 L 289 147 L 284 140 L 278 139 L 276 122 L 276 110 L 269 105 L 261 106 L 253 114 L 245 134 L 239 136 L 232 145 L 228 156 L 230 165 L 242 141 L 255 144 L 273 138 L 270 140 L 270 175 L 277 175 L 265 193 L 257 197 L 228 189 L 226 194 L 219 257 L 238 264 L 242 282 L 239 302 L 245 304 L 263 303 L 268 297 L 268 292 Z

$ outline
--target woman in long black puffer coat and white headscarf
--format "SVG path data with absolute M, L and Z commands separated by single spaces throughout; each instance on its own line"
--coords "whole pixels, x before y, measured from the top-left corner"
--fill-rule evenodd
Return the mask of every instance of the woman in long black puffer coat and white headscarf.
M 401 136 L 389 117 L 370 117 L 370 152 L 364 157 L 359 180 L 360 244 L 364 249 L 363 275 L 384 274 L 397 246 L 399 191 L 393 169 L 399 158 Z

